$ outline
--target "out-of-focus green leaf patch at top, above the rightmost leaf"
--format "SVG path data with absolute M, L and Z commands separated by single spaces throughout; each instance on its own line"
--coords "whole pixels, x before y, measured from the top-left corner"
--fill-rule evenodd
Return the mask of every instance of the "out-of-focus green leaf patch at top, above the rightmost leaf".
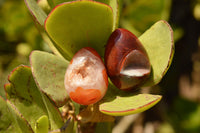
M 133 0 L 121 15 L 121 25 L 135 35 L 140 35 L 155 22 L 168 20 L 171 0 Z

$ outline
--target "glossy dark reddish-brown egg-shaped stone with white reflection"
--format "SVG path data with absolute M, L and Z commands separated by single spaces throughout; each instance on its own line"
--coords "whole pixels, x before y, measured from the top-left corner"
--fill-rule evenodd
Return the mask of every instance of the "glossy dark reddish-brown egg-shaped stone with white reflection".
M 126 29 L 116 29 L 106 45 L 105 65 L 113 84 L 122 90 L 141 85 L 150 75 L 148 55 L 138 38 Z

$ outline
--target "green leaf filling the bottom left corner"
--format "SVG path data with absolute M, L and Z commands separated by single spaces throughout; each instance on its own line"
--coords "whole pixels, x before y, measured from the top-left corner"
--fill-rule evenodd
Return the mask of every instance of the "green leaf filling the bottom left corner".
M 0 97 L 0 132 L 1 133 L 33 133 L 28 122 L 16 108 Z

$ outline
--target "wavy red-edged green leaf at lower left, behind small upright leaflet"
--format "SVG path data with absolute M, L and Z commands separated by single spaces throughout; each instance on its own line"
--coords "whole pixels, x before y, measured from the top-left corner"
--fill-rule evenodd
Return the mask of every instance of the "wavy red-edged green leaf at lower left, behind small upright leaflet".
M 7 99 L 16 106 L 34 131 L 35 123 L 43 115 L 49 117 L 50 129 L 58 129 L 63 125 L 60 112 L 46 95 L 39 91 L 29 67 L 17 67 L 9 75 L 8 80 L 10 84 L 5 86 Z

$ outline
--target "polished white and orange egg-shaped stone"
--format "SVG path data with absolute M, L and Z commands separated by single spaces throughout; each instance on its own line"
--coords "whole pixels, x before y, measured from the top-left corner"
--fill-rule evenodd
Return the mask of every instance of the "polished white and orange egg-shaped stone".
M 79 104 L 94 104 L 103 98 L 108 76 L 99 54 L 89 47 L 79 50 L 66 70 L 64 84 L 70 98 Z

